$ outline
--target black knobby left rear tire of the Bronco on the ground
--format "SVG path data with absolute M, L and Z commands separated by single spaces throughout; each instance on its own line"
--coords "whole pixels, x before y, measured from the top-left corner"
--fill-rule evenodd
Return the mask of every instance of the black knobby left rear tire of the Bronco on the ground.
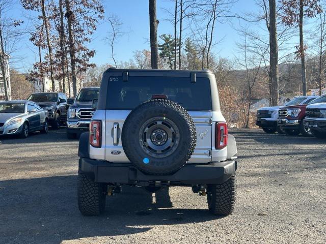
M 85 216 L 98 216 L 105 209 L 105 184 L 96 183 L 78 171 L 77 196 L 79 211 Z

